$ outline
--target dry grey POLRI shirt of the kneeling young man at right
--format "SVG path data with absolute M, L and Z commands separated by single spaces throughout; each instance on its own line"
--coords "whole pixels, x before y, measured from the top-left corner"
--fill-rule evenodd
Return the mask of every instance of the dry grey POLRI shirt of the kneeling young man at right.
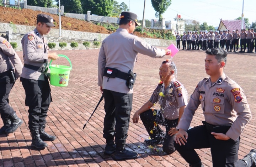
M 210 78 L 198 83 L 177 129 L 188 129 L 199 104 L 207 123 L 231 125 L 226 135 L 233 140 L 238 139 L 252 117 L 244 91 L 224 73 L 212 85 Z

